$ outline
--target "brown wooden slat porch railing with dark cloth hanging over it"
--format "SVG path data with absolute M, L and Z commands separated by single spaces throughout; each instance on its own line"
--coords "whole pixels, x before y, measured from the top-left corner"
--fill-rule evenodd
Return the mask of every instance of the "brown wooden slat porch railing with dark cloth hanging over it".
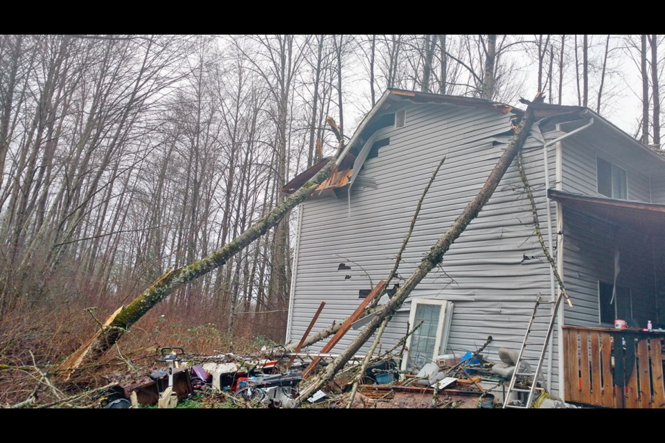
M 565 399 L 608 408 L 665 408 L 665 333 L 563 328 Z

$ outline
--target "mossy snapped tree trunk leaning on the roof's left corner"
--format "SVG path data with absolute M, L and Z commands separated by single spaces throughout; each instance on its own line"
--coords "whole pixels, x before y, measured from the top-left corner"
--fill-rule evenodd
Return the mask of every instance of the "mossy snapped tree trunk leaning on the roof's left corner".
M 338 152 L 341 151 L 341 149 L 338 150 Z M 251 226 L 251 228 L 233 239 L 233 241 L 224 244 L 224 246 L 197 262 L 178 269 L 170 269 L 154 282 L 150 288 L 146 289 L 139 297 L 130 302 L 129 305 L 118 309 L 87 343 L 58 365 L 57 371 L 59 371 L 59 376 L 62 379 L 69 379 L 73 370 L 76 370 L 83 361 L 94 360 L 107 352 L 143 314 L 161 302 L 161 300 L 175 291 L 175 289 L 222 266 L 238 251 L 241 251 L 247 245 L 251 244 L 251 242 L 264 235 L 267 230 L 276 226 L 292 208 L 304 201 L 316 190 L 317 186 L 323 180 L 330 176 L 336 159 L 337 157 L 329 161 L 323 169 L 301 186 L 299 190 L 282 201 L 281 204 L 278 204 L 265 218 L 259 219 L 254 226 Z

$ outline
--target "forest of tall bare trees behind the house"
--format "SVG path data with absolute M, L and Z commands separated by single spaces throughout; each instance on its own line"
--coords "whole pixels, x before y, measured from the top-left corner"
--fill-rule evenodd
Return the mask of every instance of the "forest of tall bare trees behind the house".
M 659 149 L 662 41 L 2 35 L 0 326 L 30 313 L 108 314 L 208 255 L 335 152 L 328 116 L 348 138 L 387 88 L 512 105 L 544 91 Z M 159 312 L 283 339 L 293 240 L 292 214 Z

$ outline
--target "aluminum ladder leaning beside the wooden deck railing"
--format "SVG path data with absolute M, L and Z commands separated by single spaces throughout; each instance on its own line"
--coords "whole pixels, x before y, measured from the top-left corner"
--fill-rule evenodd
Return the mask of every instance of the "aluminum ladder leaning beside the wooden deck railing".
M 561 291 L 557 296 L 556 301 L 542 301 L 540 300 L 540 293 L 538 294 L 538 298 L 535 300 L 535 306 L 533 307 L 533 314 L 531 314 L 531 320 L 529 320 L 529 326 L 526 327 L 526 334 L 524 334 L 524 341 L 522 341 L 522 348 L 520 349 L 520 354 L 517 356 L 517 361 L 515 362 L 515 370 L 513 371 L 513 377 L 511 377 L 511 384 L 508 386 L 506 395 L 504 395 L 504 409 L 508 408 L 526 409 L 529 408 L 529 406 L 531 406 L 531 403 L 533 402 L 533 392 L 535 392 L 535 387 L 538 384 L 537 381 L 538 377 L 540 376 L 540 370 L 542 369 L 542 361 L 545 356 L 545 351 L 547 350 L 549 339 L 552 336 L 552 330 L 554 329 L 554 322 L 556 320 L 556 314 L 562 296 L 563 292 Z M 538 316 L 539 308 L 541 308 L 542 305 L 546 305 L 549 307 L 551 307 L 551 305 L 554 305 L 554 309 L 551 311 L 549 327 L 547 328 L 547 334 L 545 334 L 544 341 L 542 341 L 542 337 L 533 336 L 532 334 L 532 332 L 534 332 L 533 327 L 535 323 L 535 318 Z M 535 330 L 536 332 L 542 332 L 542 329 L 535 329 Z M 533 372 L 531 372 L 531 369 L 528 365 L 526 366 L 526 368 L 529 369 L 522 370 L 522 365 L 524 363 L 524 352 L 527 350 L 527 348 L 529 348 L 529 350 L 540 349 L 540 357 L 538 358 L 538 365 L 536 365 L 535 370 L 533 370 Z M 515 388 L 515 383 L 517 382 L 517 379 L 520 377 L 527 377 L 531 379 L 531 386 L 529 386 L 529 389 Z M 511 398 L 513 392 L 523 392 L 525 394 L 528 392 L 529 395 L 528 397 L 526 397 L 526 403 L 524 404 L 524 406 L 508 404 L 508 399 Z

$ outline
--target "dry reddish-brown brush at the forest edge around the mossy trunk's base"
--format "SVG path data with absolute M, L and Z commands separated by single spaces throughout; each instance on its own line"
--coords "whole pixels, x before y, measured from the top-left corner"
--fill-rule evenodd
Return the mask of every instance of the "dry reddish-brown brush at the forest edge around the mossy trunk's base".
M 82 304 L 62 304 L 18 309 L 3 318 L 0 365 L 8 368 L 0 369 L 0 405 L 17 404 L 35 390 L 37 398 L 33 406 L 55 401 L 57 393 L 39 381 L 42 377 L 39 371 L 47 373 L 67 358 L 94 334 L 98 321 L 103 323 L 116 308 L 100 312 Z M 275 334 L 265 323 L 261 330 L 242 320 L 237 322 L 233 336 L 229 336 L 226 323 L 211 309 L 183 310 L 168 305 L 167 301 L 143 316 L 103 359 L 83 368 L 72 383 L 57 388 L 69 395 L 103 386 L 109 374 L 130 370 L 130 365 L 138 372 L 148 370 L 156 363 L 159 347 L 179 346 L 188 353 L 204 355 L 243 353 L 258 350 L 268 342 L 261 332 L 281 336 L 281 332 Z

